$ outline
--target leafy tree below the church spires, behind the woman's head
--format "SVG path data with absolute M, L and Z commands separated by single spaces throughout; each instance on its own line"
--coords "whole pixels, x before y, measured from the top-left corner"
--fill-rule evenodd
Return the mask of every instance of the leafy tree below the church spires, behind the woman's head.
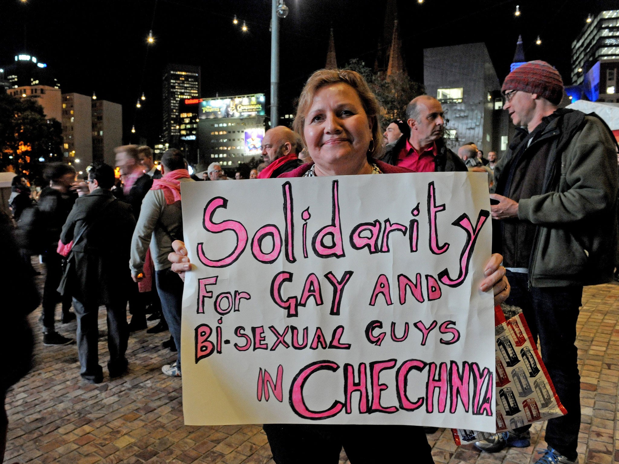
M 374 92 L 379 103 L 383 106 L 383 114 L 381 114 L 381 126 L 391 121 L 391 119 L 406 118 L 406 105 L 409 101 L 418 95 L 423 95 L 424 88 L 422 84 L 413 81 L 405 73 L 387 76 L 384 72 L 374 72 L 369 67 L 365 66 L 365 62 L 360 59 L 351 59 L 344 67 L 357 71 L 363 76 L 370 86 L 370 90 Z

